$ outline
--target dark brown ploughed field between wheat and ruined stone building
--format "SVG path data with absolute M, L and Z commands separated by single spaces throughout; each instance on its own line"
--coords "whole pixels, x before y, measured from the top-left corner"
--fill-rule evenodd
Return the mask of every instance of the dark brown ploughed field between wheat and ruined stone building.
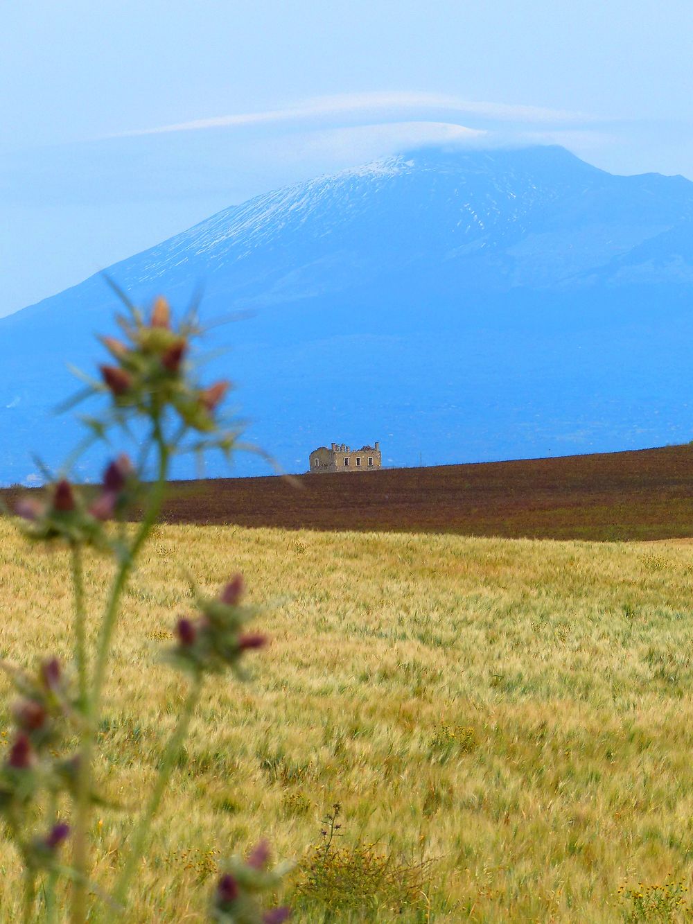
M 11 506 L 18 492 L 2 494 Z M 290 480 L 176 481 L 164 519 L 541 539 L 693 537 L 693 445 Z

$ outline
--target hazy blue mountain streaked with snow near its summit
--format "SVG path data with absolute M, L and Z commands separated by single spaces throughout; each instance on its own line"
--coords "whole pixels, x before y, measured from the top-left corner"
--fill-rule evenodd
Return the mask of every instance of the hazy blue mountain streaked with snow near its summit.
M 209 374 L 289 471 L 332 440 L 386 464 L 687 441 L 693 183 L 557 147 L 405 152 L 258 196 L 110 267 L 145 304 L 199 286 Z M 78 433 L 51 408 L 116 298 L 92 276 L 0 320 L 0 483 Z M 93 476 L 100 459 L 87 457 Z M 235 474 L 266 471 L 239 457 Z M 181 468 L 178 472 L 192 472 Z M 213 465 L 210 474 L 226 473 Z

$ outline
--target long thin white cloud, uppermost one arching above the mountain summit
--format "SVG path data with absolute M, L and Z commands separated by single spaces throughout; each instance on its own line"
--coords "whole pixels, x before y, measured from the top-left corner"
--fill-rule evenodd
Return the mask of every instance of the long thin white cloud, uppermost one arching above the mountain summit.
M 254 113 L 238 113 L 231 116 L 193 119 L 156 128 L 140 128 L 121 132 L 117 137 L 160 135 L 178 131 L 198 131 L 206 128 L 247 128 L 282 122 L 303 122 L 312 119 L 330 119 L 344 116 L 372 116 L 383 113 L 395 116 L 402 112 L 429 114 L 448 113 L 475 116 L 500 122 L 521 122 L 532 124 L 570 124 L 601 121 L 585 113 L 561 109 L 546 109 L 540 106 L 512 105 L 507 103 L 475 103 L 456 96 L 441 93 L 409 91 L 373 91 L 364 93 L 342 93 L 322 96 L 282 109 L 268 109 Z

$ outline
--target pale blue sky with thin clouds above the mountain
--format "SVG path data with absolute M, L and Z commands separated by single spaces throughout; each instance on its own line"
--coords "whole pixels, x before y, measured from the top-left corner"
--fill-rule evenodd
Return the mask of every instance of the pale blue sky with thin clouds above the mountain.
M 427 143 L 693 179 L 689 0 L 0 4 L 0 316 Z

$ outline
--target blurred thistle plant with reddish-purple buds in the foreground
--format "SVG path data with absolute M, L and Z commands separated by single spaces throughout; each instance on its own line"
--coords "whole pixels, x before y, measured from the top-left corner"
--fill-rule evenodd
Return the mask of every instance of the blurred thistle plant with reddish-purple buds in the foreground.
M 43 500 L 18 502 L 14 514 L 27 540 L 67 550 L 73 590 L 71 663 L 48 656 L 34 673 L 2 666 L 18 693 L 12 709 L 14 737 L 0 767 L 0 812 L 7 836 L 23 865 L 23 920 L 73 924 L 127 917 L 128 894 L 176 756 L 210 675 L 231 672 L 245 677 L 249 652 L 266 638 L 247 628 L 255 611 L 243 603 L 243 580 L 231 577 L 216 597 L 192 589 L 195 612 L 172 614 L 176 642 L 165 659 L 186 676 L 188 693 L 169 737 L 152 791 L 140 818 L 119 853 L 124 857 L 115 883 L 91 881 L 94 867 L 90 831 L 92 811 L 102 803 L 94 774 L 96 730 L 102 718 L 103 686 L 120 604 L 138 556 L 160 516 L 172 460 L 183 453 L 203 456 L 237 448 L 237 428 L 220 418 L 228 383 L 202 385 L 195 376 L 190 349 L 201 334 L 194 313 L 176 327 L 164 298 L 147 317 L 124 298 L 126 313 L 117 319 L 122 339 L 103 337 L 109 359 L 100 378 L 69 402 L 100 396 L 99 416 L 83 418 L 83 444 L 107 442 L 114 435 L 139 444 L 138 459 L 116 456 L 105 468 L 98 489 L 56 478 Z M 146 480 L 152 458 L 155 476 Z M 128 525 L 128 521 L 136 521 Z M 100 621 L 93 626 L 84 588 L 86 549 L 110 556 L 115 572 Z M 88 644 L 87 624 L 96 628 Z M 279 924 L 284 907 L 262 910 L 261 896 L 279 886 L 286 865 L 269 869 L 261 842 L 246 860 L 229 861 L 210 903 L 210 918 L 225 924 Z M 67 906 L 58 885 L 67 881 Z

